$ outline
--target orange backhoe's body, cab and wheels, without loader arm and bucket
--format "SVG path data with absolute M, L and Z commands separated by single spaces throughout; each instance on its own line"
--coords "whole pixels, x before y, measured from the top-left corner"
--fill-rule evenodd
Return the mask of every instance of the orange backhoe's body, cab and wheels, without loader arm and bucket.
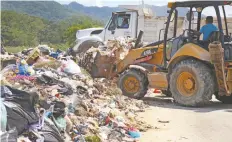
M 213 94 L 222 102 L 232 103 L 232 40 L 225 11 L 225 6 L 229 5 L 231 2 L 225 1 L 168 3 L 170 10 L 164 40 L 157 45 L 163 52 L 160 57 L 163 61 L 154 65 L 159 70 L 145 72 L 146 68 L 143 68 L 125 71 L 119 79 L 123 93 L 142 98 L 149 84 L 151 88 L 166 90 L 184 106 L 205 105 Z M 202 11 L 208 7 L 216 15 L 214 19 L 217 22 L 214 24 L 218 30 L 211 32 L 209 38 L 203 41 L 199 34 L 204 22 Z M 189 8 L 188 29 L 182 32 L 177 31 L 180 8 Z M 170 30 L 171 24 L 174 25 L 173 31 Z M 129 93 L 128 90 L 135 92 Z

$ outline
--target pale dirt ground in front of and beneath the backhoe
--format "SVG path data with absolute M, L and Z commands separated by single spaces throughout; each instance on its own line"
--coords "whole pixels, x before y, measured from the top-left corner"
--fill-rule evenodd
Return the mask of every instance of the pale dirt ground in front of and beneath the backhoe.
M 231 142 L 232 105 L 215 98 L 204 108 L 187 108 L 162 95 L 149 95 L 151 106 L 139 114 L 154 129 L 142 134 L 141 142 Z

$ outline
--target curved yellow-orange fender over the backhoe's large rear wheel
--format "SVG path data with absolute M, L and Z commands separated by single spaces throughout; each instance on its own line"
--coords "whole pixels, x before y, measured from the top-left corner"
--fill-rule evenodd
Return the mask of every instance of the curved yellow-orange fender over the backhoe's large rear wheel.
M 179 49 L 174 56 L 171 58 L 171 60 L 168 63 L 168 68 L 174 66 L 176 63 L 178 63 L 180 60 L 183 60 L 185 58 L 195 58 L 201 61 L 205 61 L 210 63 L 210 53 L 209 51 L 203 49 L 199 45 L 188 43 L 185 44 L 181 49 Z

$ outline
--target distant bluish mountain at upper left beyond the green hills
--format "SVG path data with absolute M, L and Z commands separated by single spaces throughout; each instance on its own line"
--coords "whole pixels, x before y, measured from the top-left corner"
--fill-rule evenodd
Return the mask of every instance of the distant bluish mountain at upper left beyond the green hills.
M 47 20 L 60 20 L 80 14 L 55 1 L 2 1 L 1 10 L 11 10 Z

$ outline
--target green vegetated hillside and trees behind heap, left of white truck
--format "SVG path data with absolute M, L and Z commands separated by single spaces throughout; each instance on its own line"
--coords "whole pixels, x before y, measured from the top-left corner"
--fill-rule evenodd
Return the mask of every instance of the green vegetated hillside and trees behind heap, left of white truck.
M 67 42 L 72 44 L 78 29 L 100 25 L 100 22 L 86 16 L 72 16 L 53 22 L 28 14 L 1 11 L 1 35 L 5 46 L 35 46 L 39 43 Z

